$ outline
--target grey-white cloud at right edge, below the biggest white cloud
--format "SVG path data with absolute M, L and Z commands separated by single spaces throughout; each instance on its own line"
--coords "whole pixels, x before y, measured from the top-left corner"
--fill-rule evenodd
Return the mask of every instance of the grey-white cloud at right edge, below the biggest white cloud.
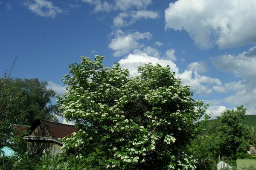
M 256 88 L 256 47 L 237 56 L 226 54 L 211 58 L 211 60 L 216 68 L 244 79 L 247 88 Z

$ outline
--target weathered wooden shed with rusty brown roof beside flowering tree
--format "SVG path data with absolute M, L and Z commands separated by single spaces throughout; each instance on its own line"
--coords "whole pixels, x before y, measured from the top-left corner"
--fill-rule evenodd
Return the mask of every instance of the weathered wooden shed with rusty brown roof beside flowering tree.
M 55 155 L 64 153 L 61 150 L 62 143 L 58 139 L 70 136 L 73 132 L 78 132 L 75 126 L 61 123 L 36 120 L 27 130 L 28 135 L 23 139 L 27 141 L 27 149 L 34 154 L 41 154 L 43 150 Z

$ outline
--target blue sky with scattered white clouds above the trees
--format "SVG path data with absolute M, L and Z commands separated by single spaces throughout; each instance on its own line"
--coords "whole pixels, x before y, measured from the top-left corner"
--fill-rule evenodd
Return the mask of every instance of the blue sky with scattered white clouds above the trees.
M 169 65 L 209 103 L 212 118 L 247 107 L 256 114 L 254 0 L 2 0 L 0 73 L 47 81 L 61 78 L 80 56 L 105 56 L 135 76 L 146 62 Z

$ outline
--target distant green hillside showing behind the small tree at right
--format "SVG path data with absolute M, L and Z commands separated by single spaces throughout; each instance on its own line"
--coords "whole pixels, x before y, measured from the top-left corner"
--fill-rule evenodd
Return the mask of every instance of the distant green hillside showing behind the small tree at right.
M 204 126 L 205 129 L 209 129 L 210 127 L 214 128 L 218 125 L 218 119 L 209 120 Z M 241 121 L 243 124 L 248 125 L 251 129 L 254 126 L 254 131 L 256 132 L 256 115 L 245 115 L 244 119 Z

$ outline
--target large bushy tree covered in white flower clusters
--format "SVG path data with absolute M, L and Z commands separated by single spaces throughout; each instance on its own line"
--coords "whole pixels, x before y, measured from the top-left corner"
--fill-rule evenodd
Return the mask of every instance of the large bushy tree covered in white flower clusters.
M 170 68 L 146 64 L 137 77 L 128 70 L 103 67 L 104 57 L 81 57 L 71 64 L 58 96 L 62 115 L 79 129 L 64 138 L 64 148 L 99 169 L 195 169 L 185 147 L 204 113 L 188 86 Z

